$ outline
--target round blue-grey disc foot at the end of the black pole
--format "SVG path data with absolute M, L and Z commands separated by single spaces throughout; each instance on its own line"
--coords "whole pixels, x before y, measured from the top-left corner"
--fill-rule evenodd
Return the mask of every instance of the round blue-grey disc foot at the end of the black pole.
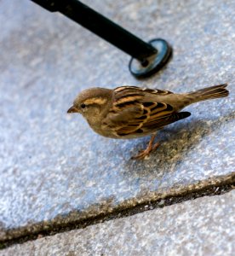
M 166 65 L 172 55 L 172 48 L 161 38 L 152 39 L 149 41 L 149 44 L 158 50 L 157 54 L 146 58 L 142 63 L 135 58 L 129 61 L 129 71 L 137 79 L 143 79 L 151 76 L 153 73 L 157 73 Z

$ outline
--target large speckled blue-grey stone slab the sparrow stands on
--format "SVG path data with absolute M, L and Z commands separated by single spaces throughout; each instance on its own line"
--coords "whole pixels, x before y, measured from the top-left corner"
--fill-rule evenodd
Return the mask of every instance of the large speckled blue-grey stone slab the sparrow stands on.
M 174 58 L 138 81 L 129 56 L 31 1 L 0 2 L 0 240 L 131 207 L 234 175 L 234 1 L 83 1 L 140 38 L 164 38 Z M 68 116 L 77 92 L 139 84 L 177 92 L 229 83 L 230 97 L 193 105 L 159 132 L 149 160 L 129 160 L 148 138 L 115 141 Z

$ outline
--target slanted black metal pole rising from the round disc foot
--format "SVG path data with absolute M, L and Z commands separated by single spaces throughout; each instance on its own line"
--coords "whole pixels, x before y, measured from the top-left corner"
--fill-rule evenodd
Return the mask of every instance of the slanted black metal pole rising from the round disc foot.
M 95 10 L 90 9 L 87 5 L 77 0 L 32 1 L 51 12 L 59 11 L 61 14 L 66 15 L 70 19 L 89 29 L 91 32 L 94 32 L 96 35 L 115 45 L 118 49 L 122 49 L 134 59 L 138 60 L 140 62 L 140 73 L 139 71 L 137 73 L 133 72 L 131 64 L 129 65 L 131 73 L 136 77 L 149 75 L 149 71 L 147 74 L 146 71 L 144 71 L 143 75 L 141 74 L 143 71 L 142 67 L 146 69 L 146 67 L 149 66 L 149 62 L 152 61 L 151 57 L 158 55 L 158 47 L 156 48 L 152 44 L 147 44 L 140 38 L 135 37 L 132 33 L 123 29 L 123 27 L 112 22 L 112 20 L 108 20 L 103 15 L 100 15 Z M 162 40 L 164 44 L 167 44 L 163 39 L 158 40 Z M 167 44 L 167 46 L 169 48 L 169 44 Z M 154 72 L 156 72 L 155 66 L 153 68 Z M 139 69 L 139 67 L 137 69 Z M 154 72 L 151 72 L 150 74 Z

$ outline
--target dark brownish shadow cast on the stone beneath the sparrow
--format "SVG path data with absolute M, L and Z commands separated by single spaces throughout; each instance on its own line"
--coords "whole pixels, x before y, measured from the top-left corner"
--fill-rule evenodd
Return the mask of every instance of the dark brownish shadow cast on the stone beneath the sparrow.
M 150 154 L 149 159 L 131 160 L 129 158 L 124 164 L 125 172 L 136 172 L 140 175 L 144 175 L 146 172 L 168 172 L 173 167 L 180 165 L 198 143 L 206 138 L 209 142 L 209 135 L 212 132 L 233 119 L 235 119 L 235 111 L 219 119 L 193 119 L 169 126 L 169 128 L 158 132 L 157 139 L 160 146 Z M 148 140 L 149 138 L 145 137 L 140 143 L 136 143 L 135 153 L 132 150 L 131 154 L 137 154 L 138 150 L 145 148 Z

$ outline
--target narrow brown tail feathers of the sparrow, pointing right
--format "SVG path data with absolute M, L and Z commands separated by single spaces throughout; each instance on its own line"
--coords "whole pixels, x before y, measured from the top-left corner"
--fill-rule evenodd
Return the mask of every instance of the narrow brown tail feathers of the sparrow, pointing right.
M 191 97 L 191 103 L 226 97 L 229 94 L 229 91 L 226 90 L 226 86 L 227 84 L 215 85 L 201 90 L 189 92 L 187 95 Z

